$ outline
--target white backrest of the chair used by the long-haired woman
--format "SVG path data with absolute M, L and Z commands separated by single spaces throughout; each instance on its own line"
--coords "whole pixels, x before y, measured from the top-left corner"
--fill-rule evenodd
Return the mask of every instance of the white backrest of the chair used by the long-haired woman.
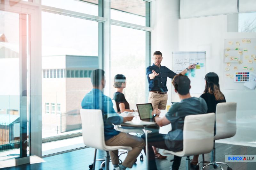
M 236 135 L 236 102 L 218 103 L 216 107 L 216 134 L 214 139 Z

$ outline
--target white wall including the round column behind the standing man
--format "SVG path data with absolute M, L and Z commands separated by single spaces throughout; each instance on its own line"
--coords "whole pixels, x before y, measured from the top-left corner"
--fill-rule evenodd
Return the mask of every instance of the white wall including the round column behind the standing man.
M 151 34 L 151 56 L 154 51 L 161 51 L 162 65 L 171 69 L 172 51 L 206 51 L 206 72 L 216 72 L 220 77 L 220 89 L 226 100 L 237 102 L 236 136 L 218 142 L 256 146 L 256 105 L 253 104 L 256 91 L 223 89 L 224 39 L 227 32 L 237 31 L 237 15 L 179 19 L 178 0 L 161 0 L 154 3 L 156 8 L 152 9 L 151 26 L 154 30 Z M 167 84 L 167 104 L 170 104 L 171 79 L 168 79 Z

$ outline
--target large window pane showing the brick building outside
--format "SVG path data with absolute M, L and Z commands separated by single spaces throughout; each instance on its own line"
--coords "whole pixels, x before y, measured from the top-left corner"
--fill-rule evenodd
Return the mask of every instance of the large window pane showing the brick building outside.
M 45 141 L 81 132 L 81 101 L 92 89 L 84 72 L 94 69 L 98 69 L 98 22 L 42 12 L 42 103 L 50 103 L 50 111 L 49 105 L 42 105 L 42 113 L 51 113 L 42 114 Z M 43 150 L 43 155 L 49 152 Z

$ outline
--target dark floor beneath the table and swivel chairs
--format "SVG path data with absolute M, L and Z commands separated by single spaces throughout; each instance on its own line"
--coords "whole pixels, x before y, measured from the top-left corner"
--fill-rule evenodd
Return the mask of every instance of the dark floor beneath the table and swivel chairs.
M 161 150 L 160 150 L 161 152 Z M 143 152 L 144 154 L 144 152 Z M 89 165 L 92 163 L 94 155 L 94 149 L 86 148 L 73 152 L 63 153 L 51 157 L 46 157 L 44 160 L 46 162 L 37 163 L 37 164 L 26 164 L 16 167 L 4 168 L 4 170 L 51 170 L 51 169 L 61 169 L 61 170 L 84 170 L 89 169 Z M 105 152 L 98 151 L 97 158 L 103 158 Z M 225 162 L 225 155 L 256 155 L 255 147 L 247 147 L 247 146 L 238 146 L 231 144 L 220 144 L 216 143 L 216 161 Z M 125 158 L 125 154 L 121 156 L 123 160 Z M 210 160 L 211 155 L 205 154 L 205 159 Z M 140 161 L 139 157 L 137 159 L 136 164 L 132 167 L 134 170 L 144 170 L 146 169 L 146 160 L 144 155 L 144 161 Z M 170 160 L 173 159 L 173 155 L 168 155 L 167 159 L 157 159 L 157 167 L 158 170 L 168 170 L 172 165 Z M 186 169 L 185 157 L 181 160 L 180 170 Z M 201 155 L 199 156 L 199 160 L 202 160 Z M 256 170 L 256 162 L 255 163 L 228 163 L 233 170 Z M 201 166 L 200 166 L 201 167 Z M 100 162 L 96 164 L 96 170 L 100 168 Z M 103 168 L 105 169 L 105 168 Z M 110 163 L 110 170 L 113 169 L 112 164 Z M 213 167 L 205 168 L 205 170 L 213 170 Z M 223 166 L 223 169 L 227 169 L 227 166 Z

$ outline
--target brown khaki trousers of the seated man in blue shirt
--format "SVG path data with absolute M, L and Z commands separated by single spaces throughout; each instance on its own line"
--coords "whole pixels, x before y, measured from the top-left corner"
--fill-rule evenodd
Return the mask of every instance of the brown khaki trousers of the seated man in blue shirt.
M 132 151 L 128 151 L 126 158 L 123 161 L 123 166 L 132 168 L 133 163 L 139 156 L 141 150 L 145 146 L 145 141 L 140 138 L 133 135 L 129 135 L 123 132 L 120 132 L 118 135 L 108 139 L 105 141 L 106 145 L 108 146 L 131 146 Z M 112 164 L 119 164 L 118 159 L 118 150 L 115 151 L 109 151 L 110 158 L 112 161 Z

